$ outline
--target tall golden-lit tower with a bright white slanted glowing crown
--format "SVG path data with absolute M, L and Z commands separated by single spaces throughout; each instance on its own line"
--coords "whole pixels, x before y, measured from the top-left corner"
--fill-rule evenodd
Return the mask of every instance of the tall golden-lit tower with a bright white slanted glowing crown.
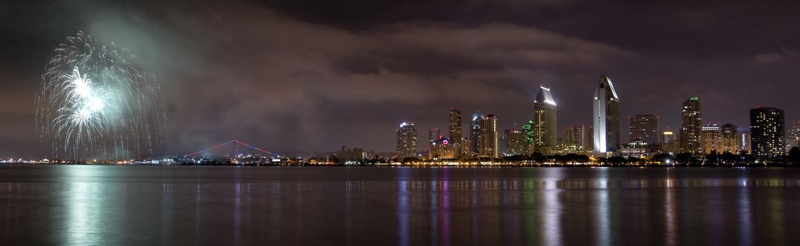
M 558 144 L 556 105 L 550 89 L 539 86 L 534 100 L 534 148 L 545 153 Z

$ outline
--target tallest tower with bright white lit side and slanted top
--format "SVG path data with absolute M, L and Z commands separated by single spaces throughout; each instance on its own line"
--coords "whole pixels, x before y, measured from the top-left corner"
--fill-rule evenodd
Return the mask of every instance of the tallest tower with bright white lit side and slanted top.
M 592 112 L 594 152 L 613 152 L 619 147 L 619 97 L 606 75 L 600 75 Z

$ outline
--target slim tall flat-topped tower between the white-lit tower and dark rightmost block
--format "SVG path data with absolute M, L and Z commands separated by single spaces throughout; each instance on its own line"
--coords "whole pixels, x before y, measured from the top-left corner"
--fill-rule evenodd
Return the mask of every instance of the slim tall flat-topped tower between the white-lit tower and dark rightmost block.
M 683 102 L 681 111 L 681 151 L 702 153 L 700 138 L 702 132 L 702 105 L 698 97 L 689 97 Z

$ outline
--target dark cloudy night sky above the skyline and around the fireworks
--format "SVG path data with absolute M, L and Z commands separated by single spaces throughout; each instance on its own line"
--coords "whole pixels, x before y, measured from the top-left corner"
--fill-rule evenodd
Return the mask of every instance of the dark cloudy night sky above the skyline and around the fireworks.
M 34 95 L 51 50 L 79 30 L 125 46 L 166 94 L 163 152 L 238 139 L 274 151 L 394 151 L 402 121 L 446 132 L 451 107 L 499 129 L 552 89 L 558 127 L 590 125 L 607 74 L 627 117 L 677 132 L 749 125 L 757 105 L 800 118 L 800 2 L 18 1 L 0 3 L 0 158 L 42 157 Z M 466 136 L 466 133 L 465 133 Z M 421 148 L 424 149 L 424 148 Z

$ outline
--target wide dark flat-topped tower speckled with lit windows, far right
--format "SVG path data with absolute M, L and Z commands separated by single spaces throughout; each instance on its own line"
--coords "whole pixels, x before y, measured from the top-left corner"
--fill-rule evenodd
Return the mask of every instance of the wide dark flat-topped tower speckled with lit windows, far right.
M 754 157 L 771 158 L 786 152 L 786 132 L 782 109 L 750 109 L 750 145 Z

